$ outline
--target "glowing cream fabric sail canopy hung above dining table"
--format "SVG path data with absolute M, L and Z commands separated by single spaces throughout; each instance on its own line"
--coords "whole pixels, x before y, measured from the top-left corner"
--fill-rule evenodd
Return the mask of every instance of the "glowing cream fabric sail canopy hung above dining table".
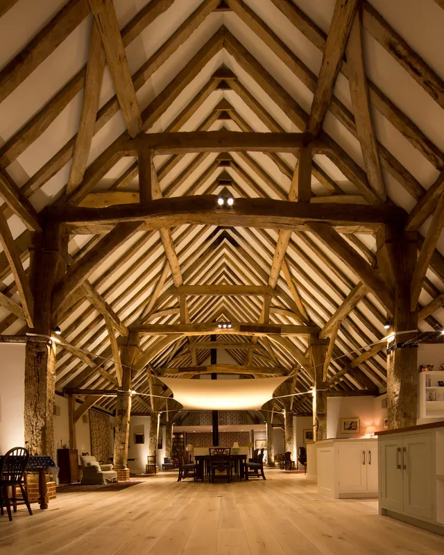
M 174 379 L 160 377 L 184 409 L 253 411 L 273 397 L 288 376 L 259 379 Z

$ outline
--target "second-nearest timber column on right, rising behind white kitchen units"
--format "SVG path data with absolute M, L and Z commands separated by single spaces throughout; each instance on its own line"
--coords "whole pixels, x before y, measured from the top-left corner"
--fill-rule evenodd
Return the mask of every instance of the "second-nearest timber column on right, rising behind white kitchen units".
M 327 355 L 328 339 L 319 339 L 318 334 L 310 336 L 311 360 L 313 361 L 313 438 L 314 441 L 327 439 L 327 384 L 323 381 L 324 361 Z

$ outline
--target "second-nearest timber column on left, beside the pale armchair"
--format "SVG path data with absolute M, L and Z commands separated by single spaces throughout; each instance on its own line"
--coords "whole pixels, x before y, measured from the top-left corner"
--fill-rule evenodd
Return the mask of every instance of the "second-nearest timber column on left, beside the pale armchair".
M 139 334 L 130 332 L 122 346 L 122 386 L 117 393 L 116 432 L 114 436 L 114 470 L 119 481 L 130 479 L 128 444 L 130 438 L 131 381 L 135 361 L 139 356 Z

